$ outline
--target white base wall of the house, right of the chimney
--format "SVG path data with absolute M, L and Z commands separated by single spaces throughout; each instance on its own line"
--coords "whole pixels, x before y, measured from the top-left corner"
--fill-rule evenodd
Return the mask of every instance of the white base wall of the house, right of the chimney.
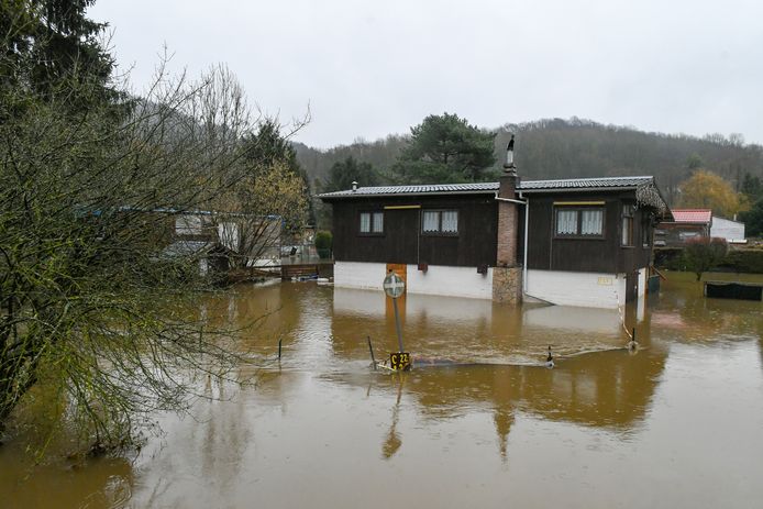
M 616 309 L 626 303 L 624 275 L 528 270 L 527 294 L 560 306 Z

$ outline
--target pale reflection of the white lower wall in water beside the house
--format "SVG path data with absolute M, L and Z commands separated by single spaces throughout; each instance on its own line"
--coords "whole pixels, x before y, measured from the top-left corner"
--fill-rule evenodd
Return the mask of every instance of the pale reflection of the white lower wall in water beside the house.
M 388 300 L 378 291 L 334 289 L 331 330 L 338 354 L 362 355 L 358 339 L 366 335 L 379 351 L 397 348 Z M 620 347 L 628 341 L 617 310 L 515 308 L 488 300 L 421 295 L 408 296 L 400 308 L 405 309 L 406 347 L 420 357 L 537 364 L 549 344 L 556 353 L 571 355 Z

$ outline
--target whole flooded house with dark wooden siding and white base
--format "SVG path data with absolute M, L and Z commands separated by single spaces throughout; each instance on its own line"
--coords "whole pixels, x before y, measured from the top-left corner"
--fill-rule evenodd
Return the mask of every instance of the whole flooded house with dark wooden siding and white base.
M 653 177 L 354 187 L 333 206 L 334 285 L 616 308 L 644 296 L 652 230 L 670 214 Z

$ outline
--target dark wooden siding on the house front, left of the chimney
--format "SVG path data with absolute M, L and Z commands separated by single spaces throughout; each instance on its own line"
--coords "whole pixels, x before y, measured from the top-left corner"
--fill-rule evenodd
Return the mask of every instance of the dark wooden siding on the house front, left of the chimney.
M 338 261 L 472 267 L 496 264 L 498 204 L 493 196 L 357 198 L 332 204 Z M 421 209 L 384 210 L 386 206 Z M 427 209 L 457 210 L 458 234 L 422 234 L 421 211 Z M 384 234 L 361 234 L 361 212 L 383 210 Z

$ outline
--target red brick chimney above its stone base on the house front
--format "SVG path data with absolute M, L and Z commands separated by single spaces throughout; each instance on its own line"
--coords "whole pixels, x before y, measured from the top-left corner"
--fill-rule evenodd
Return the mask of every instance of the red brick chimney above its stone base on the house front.
M 499 184 L 499 198 L 517 199 L 515 191 L 519 184 L 519 178 L 517 177 L 517 167 L 513 164 L 513 134 L 506 150 L 506 163 L 504 164 L 504 174 L 500 176 Z M 497 265 L 499 267 L 513 267 L 517 265 L 518 207 L 518 203 L 498 201 Z

